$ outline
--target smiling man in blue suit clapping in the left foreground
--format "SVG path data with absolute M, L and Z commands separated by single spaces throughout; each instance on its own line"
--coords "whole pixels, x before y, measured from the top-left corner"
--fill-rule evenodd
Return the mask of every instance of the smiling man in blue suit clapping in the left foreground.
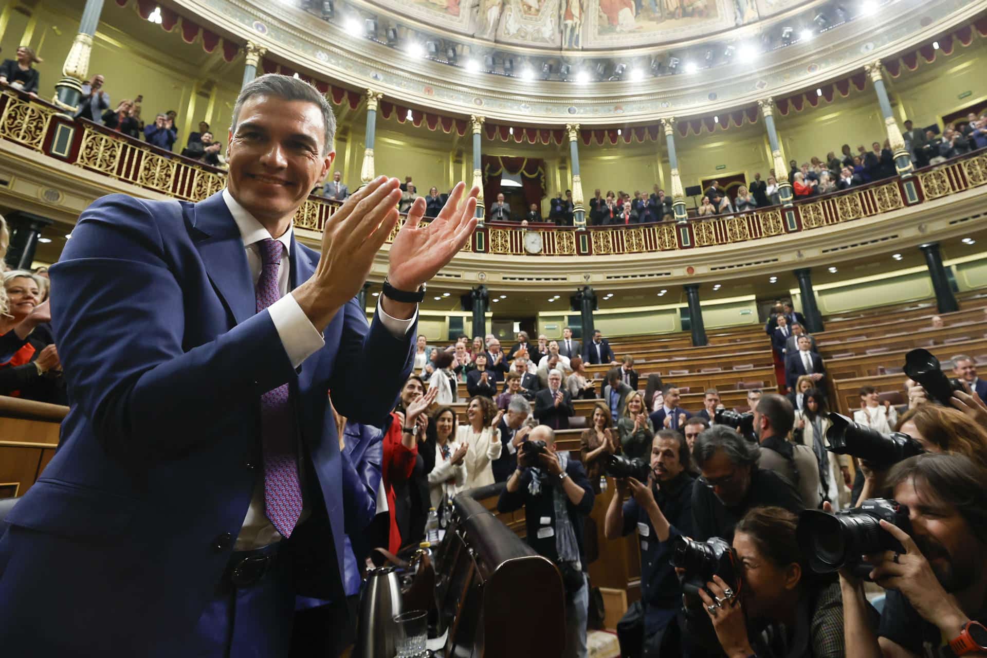
M 51 267 L 71 408 L 0 538 L 5 654 L 282 656 L 296 596 L 344 601 L 343 537 L 374 506 L 328 393 L 355 422 L 387 416 L 421 286 L 468 240 L 477 190 L 427 227 L 413 204 L 368 328 L 353 297 L 398 181 L 351 195 L 320 254 L 291 224 L 335 157 L 325 98 L 261 76 L 232 122 L 226 189 L 102 198 Z

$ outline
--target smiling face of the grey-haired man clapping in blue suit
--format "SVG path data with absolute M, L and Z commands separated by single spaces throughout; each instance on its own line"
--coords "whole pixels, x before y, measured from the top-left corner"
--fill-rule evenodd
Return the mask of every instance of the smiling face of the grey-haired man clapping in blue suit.
M 314 103 L 273 96 L 248 99 L 229 136 L 233 197 L 262 223 L 293 214 L 326 178 L 336 157 L 335 151 L 322 152 L 325 127 Z

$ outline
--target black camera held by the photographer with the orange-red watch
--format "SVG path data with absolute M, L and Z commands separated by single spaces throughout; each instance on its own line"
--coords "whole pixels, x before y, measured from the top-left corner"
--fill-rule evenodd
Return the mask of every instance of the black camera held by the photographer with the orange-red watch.
M 868 578 L 873 564 L 865 562 L 861 555 L 881 550 L 905 551 L 898 540 L 881 529 L 881 519 L 911 534 L 908 507 L 890 498 L 870 498 L 860 507 L 835 514 L 804 510 L 798 516 L 798 548 L 815 573 L 848 567 L 858 577 Z

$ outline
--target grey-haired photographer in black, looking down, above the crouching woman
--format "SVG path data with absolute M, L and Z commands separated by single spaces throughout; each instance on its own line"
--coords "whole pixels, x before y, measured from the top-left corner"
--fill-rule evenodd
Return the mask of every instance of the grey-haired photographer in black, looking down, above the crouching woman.
M 761 448 L 726 425 L 696 437 L 692 458 L 702 474 L 692 490 L 693 539 L 733 540 L 733 526 L 752 507 L 805 508 L 796 487 L 782 475 L 757 467 Z

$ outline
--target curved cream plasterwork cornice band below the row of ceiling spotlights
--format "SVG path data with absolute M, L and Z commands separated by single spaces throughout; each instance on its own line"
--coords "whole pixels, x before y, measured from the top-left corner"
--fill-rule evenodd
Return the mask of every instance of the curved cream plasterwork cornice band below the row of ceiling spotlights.
M 755 103 L 766 94 L 794 93 L 860 70 L 875 58 L 942 33 L 987 9 L 987 0 L 898 0 L 869 21 L 858 21 L 816 37 L 811 44 L 764 55 L 759 70 L 749 62 L 717 69 L 716 90 L 702 74 L 648 79 L 644 84 L 569 83 L 530 85 L 424 60 L 365 38 L 346 35 L 315 16 L 262 0 L 176 0 L 220 32 L 262 42 L 268 53 L 326 79 L 365 88 L 372 84 L 388 98 L 469 115 L 482 110 L 493 120 L 583 126 L 619 119 L 653 121 L 656 114 L 689 116 Z M 911 7 L 909 11 L 903 11 Z M 412 64 L 413 61 L 417 63 Z M 414 68 L 415 72 L 410 69 Z M 534 93 L 533 93 L 534 92 Z

